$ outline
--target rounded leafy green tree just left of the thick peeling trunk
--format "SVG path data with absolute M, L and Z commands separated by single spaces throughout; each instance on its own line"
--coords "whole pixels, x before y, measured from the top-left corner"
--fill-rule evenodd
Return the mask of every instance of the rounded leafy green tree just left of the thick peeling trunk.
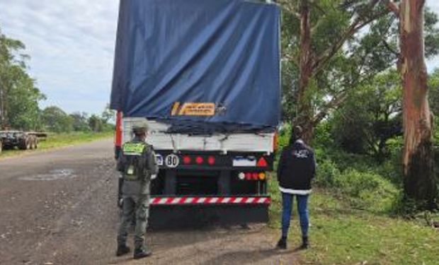
M 331 122 L 333 139 L 343 150 L 384 161 L 389 156 L 387 141 L 402 133 L 397 71 L 375 76 L 353 90 Z

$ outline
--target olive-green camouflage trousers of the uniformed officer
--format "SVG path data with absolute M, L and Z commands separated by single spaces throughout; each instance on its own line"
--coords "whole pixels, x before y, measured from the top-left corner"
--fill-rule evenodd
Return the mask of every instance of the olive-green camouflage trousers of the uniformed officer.
M 132 218 L 136 218 L 134 245 L 136 249 L 144 248 L 144 238 L 147 230 L 149 215 L 149 195 L 126 196 L 123 195 L 122 220 L 118 232 L 118 245 L 125 245 L 127 242 L 128 228 Z

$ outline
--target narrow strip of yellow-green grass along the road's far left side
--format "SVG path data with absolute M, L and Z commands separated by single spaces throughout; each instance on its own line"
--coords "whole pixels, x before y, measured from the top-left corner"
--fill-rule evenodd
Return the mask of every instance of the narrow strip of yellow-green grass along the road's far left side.
M 58 148 L 62 146 L 72 146 L 77 143 L 86 143 L 98 139 L 108 138 L 113 136 L 113 131 L 106 131 L 101 133 L 93 132 L 73 132 L 69 134 L 50 134 L 45 141 L 40 141 L 38 150 L 47 150 L 50 148 Z M 35 151 L 21 151 L 21 150 L 4 150 L 0 153 L 0 159 L 14 155 L 23 155 L 26 153 L 33 153 Z

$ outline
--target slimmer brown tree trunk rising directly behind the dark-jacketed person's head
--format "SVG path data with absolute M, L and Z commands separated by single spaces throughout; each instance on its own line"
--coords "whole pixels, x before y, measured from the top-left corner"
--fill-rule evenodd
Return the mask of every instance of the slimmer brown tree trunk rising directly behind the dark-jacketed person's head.
M 314 134 L 312 102 L 306 94 L 313 71 L 312 63 L 310 9 L 308 0 L 302 0 L 300 4 L 300 76 L 297 90 L 297 114 L 293 124 L 302 126 L 304 133 L 302 139 L 305 142 L 309 142 Z

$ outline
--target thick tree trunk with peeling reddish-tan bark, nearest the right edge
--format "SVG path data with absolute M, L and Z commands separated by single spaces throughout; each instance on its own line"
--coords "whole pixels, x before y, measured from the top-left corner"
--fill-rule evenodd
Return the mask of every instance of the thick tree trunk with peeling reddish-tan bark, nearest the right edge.
M 433 160 L 433 115 L 428 106 L 424 59 L 425 0 L 403 0 L 399 10 L 404 115 L 404 194 L 407 199 L 435 208 L 438 196 Z

